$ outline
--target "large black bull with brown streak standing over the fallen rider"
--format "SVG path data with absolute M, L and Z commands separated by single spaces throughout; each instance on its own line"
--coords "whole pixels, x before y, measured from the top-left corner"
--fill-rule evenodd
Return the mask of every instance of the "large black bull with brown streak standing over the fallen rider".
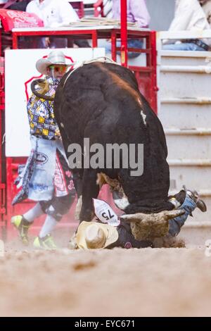
M 60 82 L 54 112 L 65 152 L 84 138 L 91 144 L 143 144 L 143 174 L 132 176 L 130 168 L 75 168 L 75 186 L 82 196 L 80 220 L 90 220 L 99 185 L 97 173 L 116 179 L 127 196 L 125 213 L 158 213 L 172 210 L 167 201 L 170 172 L 162 125 L 139 92 L 134 74 L 114 63 L 96 61 L 67 73 Z M 106 156 L 105 156 L 106 157 Z M 105 161 L 106 164 L 106 161 Z

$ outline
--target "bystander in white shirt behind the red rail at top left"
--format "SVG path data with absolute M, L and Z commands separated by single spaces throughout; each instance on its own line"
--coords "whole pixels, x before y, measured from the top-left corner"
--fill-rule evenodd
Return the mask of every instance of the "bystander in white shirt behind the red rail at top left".
M 45 27 L 60 27 L 77 22 L 79 17 L 68 0 L 32 0 L 27 5 L 27 13 L 34 13 L 44 21 Z M 65 48 L 67 37 L 46 37 L 37 39 L 38 48 Z

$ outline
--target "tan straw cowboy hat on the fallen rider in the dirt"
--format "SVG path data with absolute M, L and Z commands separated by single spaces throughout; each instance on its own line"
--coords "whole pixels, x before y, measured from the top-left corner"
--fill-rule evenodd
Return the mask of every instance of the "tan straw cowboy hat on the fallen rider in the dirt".
M 82 222 L 77 229 L 79 249 L 101 249 L 116 242 L 119 235 L 112 225 L 98 222 Z

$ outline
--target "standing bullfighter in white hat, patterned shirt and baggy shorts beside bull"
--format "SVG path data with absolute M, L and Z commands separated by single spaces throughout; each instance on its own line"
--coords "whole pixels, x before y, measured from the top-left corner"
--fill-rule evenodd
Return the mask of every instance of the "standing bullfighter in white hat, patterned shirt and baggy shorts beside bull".
M 33 94 L 27 102 L 32 150 L 15 181 L 22 188 L 13 199 L 13 205 L 27 198 L 37 204 L 23 215 L 13 216 L 11 223 L 23 244 L 28 245 L 28 230 L 34 219 L 46 214 L 39 236 L 34 239 L 34 247 L 56 249 L 51 232 L 75 200 L 72 173 L 53 113 L 53 96 L 68 65 L 63 52 L 53 50 L 47 58 L 37 61 L 36 68 L 46 75 L 46 80 L 32 83 Z

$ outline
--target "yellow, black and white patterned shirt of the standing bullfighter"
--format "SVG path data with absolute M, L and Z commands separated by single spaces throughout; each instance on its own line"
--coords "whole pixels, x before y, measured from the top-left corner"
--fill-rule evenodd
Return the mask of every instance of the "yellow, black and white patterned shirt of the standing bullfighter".
M 46 95 L 53 96 L 59 81 L 47 77 L 47 82 L 49 83 L 49 92 Z M 27 113 L 30 122 L 30 135 L 49 140 L 60 138 L 60 132 L 53 113 L 53 101 L 39 99 L 32 94 L 27 102 Z

